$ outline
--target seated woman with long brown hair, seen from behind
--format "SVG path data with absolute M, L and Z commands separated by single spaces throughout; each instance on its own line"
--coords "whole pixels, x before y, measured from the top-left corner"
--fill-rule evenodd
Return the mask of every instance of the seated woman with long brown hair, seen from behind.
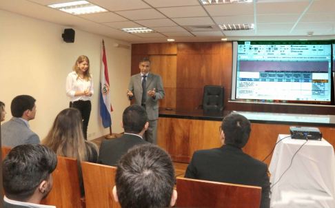
M 81 162 L 97 163 L 98 147 L 83 136 L 81 113 L 74 107 L 62 110 L 41 144 L 50 147 L 58 156 L 76 158 L 79 167 L 81 196 L 85 195 Z

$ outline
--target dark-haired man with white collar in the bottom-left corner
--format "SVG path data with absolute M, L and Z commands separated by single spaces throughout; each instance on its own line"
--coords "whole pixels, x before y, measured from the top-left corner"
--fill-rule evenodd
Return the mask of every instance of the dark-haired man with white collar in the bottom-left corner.
M 57 156 L 43 145 L 19 145 L 3 159 L 3 208 L 47 208 L 39 205 L 52 188 Z

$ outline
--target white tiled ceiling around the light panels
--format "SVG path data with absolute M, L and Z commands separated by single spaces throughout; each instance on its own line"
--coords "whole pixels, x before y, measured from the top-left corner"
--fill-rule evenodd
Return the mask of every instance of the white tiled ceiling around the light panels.
M 200 0 L 89 0 L 109 12 L 72 15 L 46 5 L 70 0 L 1 0 L 0 9 L 129 43 L 238 39 L 335 39 L 335 0 L 257 0 L 203 6 Z M 254 23 L 255 30 L 221 31 L 217 25 Z M 190 26 L 211 25 L 212 31 Z M 119 29 L 147 27 L 150 34 Z M 314 32 L 307 37 L 307 32 Z

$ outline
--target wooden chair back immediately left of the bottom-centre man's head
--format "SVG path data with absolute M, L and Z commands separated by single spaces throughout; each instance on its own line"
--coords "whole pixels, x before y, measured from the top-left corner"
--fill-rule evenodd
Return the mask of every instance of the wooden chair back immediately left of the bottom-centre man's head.
M 114 200 L 116 167 L 82 162 L 83 181 L 87 208 L 121 208 Z M 58 208 L 58 207 L 57 207 Z

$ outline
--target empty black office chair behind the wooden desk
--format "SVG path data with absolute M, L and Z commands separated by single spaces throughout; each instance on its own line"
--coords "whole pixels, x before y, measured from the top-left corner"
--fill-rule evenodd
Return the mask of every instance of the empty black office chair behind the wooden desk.
M 223 87 L 214 85 L 205 85 L 203 88 L 203 104 L 198 105 L 196 109 L 223 110 Z

